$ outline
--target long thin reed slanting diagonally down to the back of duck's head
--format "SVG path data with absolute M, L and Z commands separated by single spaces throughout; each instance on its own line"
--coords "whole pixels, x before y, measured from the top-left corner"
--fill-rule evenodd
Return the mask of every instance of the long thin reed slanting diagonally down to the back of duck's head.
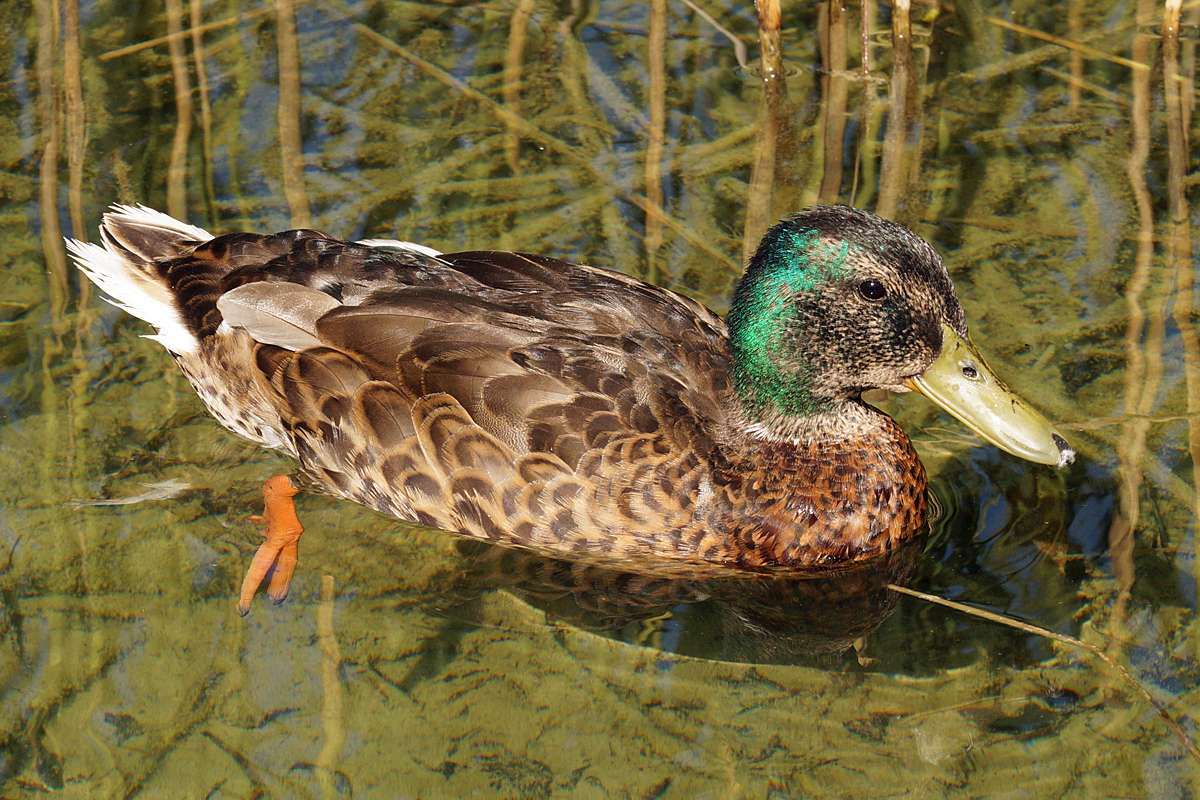
M 438 80 L 439 83 L 443 83 L 443 84 L 450 86 L 455 91 L 462 94 L 464 97 L 469 97 L 470 100 L 475 101 L 476 103 L 480 103 L 481 106 L 484 106 L 485 108 L 487 108 L 492 114 L 494 114 L 497 118 L 499 118 L 502 121 L 511 120 L 512 124 L 515 126 L 517 126 L 521 130 L 522 134 L 526 136 L 527 138 L 535 140 L 538 144 L 542 145 L 547 150 L 553 150 L 558 155 L 560 155 L 564 158 L 566 158 L 566 160 L 571 161 L 572 163 L 575 163 L 577 167 L 581 167 L 582 169 L 584 169 L 586 172 L 588 172 L 593 178 L 595 178 L 598 181 L 600 181 L 601 184 L 605 184 L 606 186 L 610 186 L 616 194 L 619 194 L 620 197 L 623 197 L 629 203 L 632 203 L 638 209 L 641 209 L 643 212 L 646 212 L 646 213 L 654 213 L 654 215 L 660 216 L 662 218 L 662 224 L 664 225 L 666 225 L 667 228 L 670 228 L 680 239 L 683 239 L 685 242 L 688 242 L 689 245 L 691 245 L 696 249 L 698 249 L 698 251 L 701 251 L 703 253 L 707 253 L 708 255 L 712 255 L 715 260 L 718 260 L 721 264 L 724 264 L 731 271 L 738 270 L 738 264 L 732 258 L 730 258 L 727 253 L 724 253 L 724 252 L 716 249 L 704 237 L 700 236 L 694 230 L 691 230 L 690 228 L 688 228 L 683 223 L 678 222 L 677 219 L 673 219 L 670 215 L 667 215 L 666 211 L 662 210 L 662 206 L 655 205 L 655 204 L 650 203 L 642 194 L 638 194 L 636 192 L 631 192 L 631 191 L 624 188 L 623 186 L 617 185 L 613 181 L 612 175 L 607 174 L 601 167 L 599 167 L 598 164 L 593 163 L 592 158 L 588 158 L 587 156 L 581 155 L 580 152 L 577 152 L 577 149 L 575 146 L 569 145 L 565 142 L 563 142 L 562 139 L 558 139 L 558 138 L 556 138 L 556 137 L 546 133 L 545 131 L 542 131 L 541 128 L 539 128 L 536 125 L 534 125 L 532 122 L 528 122 L 524 119 L 521 119 L 518 116 L 514 116 L 512 114 L 510 114 L 508 112 L 508 109 L 505 109 L 503 106 L 500 106 L 499 103 L 497 103 L 494 100 L 492 100 L 491 97 L 488 97 L 484 92 L 481 92 L 481 91 L 479 91 L 479 90 L 476 90 L 476 89 L 467 85 L 462 80 L 458 80 L 457 78 L 455 78 L 454 76 L 451 76 L 450 73 L 448 73 L 445 70 L 438 67 L 434 64 L 431 64 L 431 62 L 426 61 L 421 56 L 419 56 L 415 53 L 413 53 L 412 50 L 409 50 L 409 49 L 407 49 L 407 48 L 397 44 L 396 42 L 391 41 L 386 36 L 382 36 L 380 34 L 377 34 L 376 31 L 371 30 L 370 28 L 367 28 L 366 25 L 364 25 L 361 23 L 355 23 L 353 25 L 353 28 L 362 37 L 365 37 L 367 40 L 371 40 L 372 42 L 374 42 L 376 44 L 378 44 L 383 49 L 385 49 L 385 50 L 388 50 L 388 52 L 390 52 L 390 53 L 392 53 L 395 55 L 398 55 L 400 58 L 404 59 L 406 61 L 408 61 L 409 64 L 412 64 L 413 66 L 415 66 L 416 68 L 419 68 L 421 72 L 426 73 L 431 78 Z

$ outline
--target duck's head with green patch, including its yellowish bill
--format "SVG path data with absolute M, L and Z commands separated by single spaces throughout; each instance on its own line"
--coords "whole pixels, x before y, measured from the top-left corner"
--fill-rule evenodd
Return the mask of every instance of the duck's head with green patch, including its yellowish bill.
M 967 338 L 937 252 L 866 211 L 818 206 L 768 230 L 727 323 L 734 387 L 763 429 L 836 417 L 868 389 L 914 389 L 1015 456 L 1074 457 Z

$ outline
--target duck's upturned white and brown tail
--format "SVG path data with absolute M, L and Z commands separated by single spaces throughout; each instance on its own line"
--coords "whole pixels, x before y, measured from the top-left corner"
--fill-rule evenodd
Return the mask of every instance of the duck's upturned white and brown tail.
M 161 263 L 188 253 L 212 234 L 144 205 L 113 205 L 100 224 L 102 245 L 67 239 L 76 266 L 107 300 L 150 323 L 155 339 L 172 353 L 194 353 L 199 343 L 184 323 Z

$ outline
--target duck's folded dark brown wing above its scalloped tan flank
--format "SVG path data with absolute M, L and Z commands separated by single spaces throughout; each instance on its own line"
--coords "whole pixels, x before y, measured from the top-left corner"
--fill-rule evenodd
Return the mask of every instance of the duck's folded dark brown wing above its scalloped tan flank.
M 338 259 L 343 272 L 352 258 Z M 361 259 L 366 275 L 389 257 Z M 379 395 L 390 413 L 448 395 L 514 452 L 552 452 L 572 469 L 601 440 L 658 434 L 660 446 L 690 449 L 719 429 L 724 324 L 703 306 L 544 257 L 438 261 L 398 265 L 370 288 L 342 276 L 340 305 L 316 320 L 316 339 L 340 354 L 330 357 L 349 356 L 395 390 Z M 329 283 L 306 276 L 311 287 Z

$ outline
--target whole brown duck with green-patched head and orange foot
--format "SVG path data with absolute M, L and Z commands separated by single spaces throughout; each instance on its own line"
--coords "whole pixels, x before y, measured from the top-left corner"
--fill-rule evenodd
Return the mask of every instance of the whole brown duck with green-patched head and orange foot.
M 869 390 L 922 393 L 1034 463 L 1074 457 L 971 342 L 937 251 L 850 206 L 768 229 L 724 318 L 547 255 L 212 235 L 142 205 L 67 248 L 306 488 L 551 558 L 803 576 L 895 551 L 923 529 L 928 479 Z M 244 614 L 269 571 L 287 596 L 294 494 L 264 487 Z

